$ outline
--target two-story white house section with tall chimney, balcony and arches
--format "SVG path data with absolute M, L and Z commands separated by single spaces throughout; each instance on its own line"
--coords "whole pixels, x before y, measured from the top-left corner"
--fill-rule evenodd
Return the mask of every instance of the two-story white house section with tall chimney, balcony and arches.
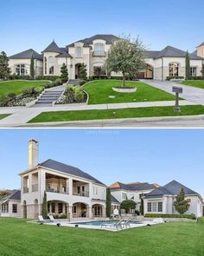
M 105 217 L 106 186 L 79 168 L 47 160 L 38 162 L 38 142 L 29 140 L 29 167 L 21 174 L 22 218 L 41 214 L 44 192 L 48 213 L 68 218 Z

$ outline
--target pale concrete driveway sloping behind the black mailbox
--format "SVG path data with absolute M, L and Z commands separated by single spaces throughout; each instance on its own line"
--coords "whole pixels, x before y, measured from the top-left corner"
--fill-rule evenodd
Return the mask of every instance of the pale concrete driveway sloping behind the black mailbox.
M 196 104 L 204 105 L 204 89 L 195 88 L 188 85 L 183 85 L 176 82 L 163 82 L 163 81 L 156 81 L 156 80 L 143 80 L 143 82 L 146 82 L 147 84 L 150 84 L 151 86 L 157 88 L 157 89 L 163 89 L 164 91 L 175 95 L 175 93 L 172 93 L 172 87 L 173 86 L 179 86 L 183 89 L 183 94 L 181 97 L 188 102 L 194 102 Z

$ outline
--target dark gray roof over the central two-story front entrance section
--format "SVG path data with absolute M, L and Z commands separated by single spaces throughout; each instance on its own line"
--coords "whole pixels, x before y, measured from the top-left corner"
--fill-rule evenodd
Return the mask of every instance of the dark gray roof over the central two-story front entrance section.
M 77 41 L 75 43 L 84 43 L 84 47 L 90 47 L 90 44 L 92 44 L 92 41 L 102 39 L 106 41 L 106 44 L 112 44 L 114 41 L 118 40 L 118 36 L 114 35 L 95 35 L 89 38 L 82 39 L 80 41 Z M 68 47 L 73 47 L 74 43 L 71 43 L 68 45 Z

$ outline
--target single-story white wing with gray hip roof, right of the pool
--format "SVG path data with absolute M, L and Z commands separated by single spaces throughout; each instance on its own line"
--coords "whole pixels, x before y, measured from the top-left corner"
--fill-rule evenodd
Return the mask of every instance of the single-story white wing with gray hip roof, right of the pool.
M 177 181 L 171 181 L 163 187 L 157 187 L 144 197 L 144 214 L 146 213 L 177 213 L 173 205 L 175 197 L 184 189 L 185 200 L 190 207 L 187 213 L 193 213 L 196 217 L 203 216 L 203 199 L 200 194 Z

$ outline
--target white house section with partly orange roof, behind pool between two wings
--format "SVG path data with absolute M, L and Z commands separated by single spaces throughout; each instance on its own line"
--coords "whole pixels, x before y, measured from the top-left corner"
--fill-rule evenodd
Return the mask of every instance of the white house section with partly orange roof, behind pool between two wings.
M 147 182 L 133 182 L 124 184 L 118 181 L 110 186 L 112 197 L 115 198 L 119 204 L 126 199 L 134 200 L 137 203 L 137 211 L 140 211 L 141 199 L 143 196 L 145 194 L 149 194 L 156 187 L 159 186 L 157 184 L 149 184 Z

